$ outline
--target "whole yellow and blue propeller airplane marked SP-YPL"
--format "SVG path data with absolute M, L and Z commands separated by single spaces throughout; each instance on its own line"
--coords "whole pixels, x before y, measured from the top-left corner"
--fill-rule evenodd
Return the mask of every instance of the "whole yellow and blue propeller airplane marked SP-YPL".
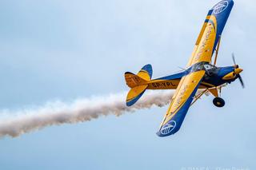
M 225 101 L 219 97 L 219 94 L 224 85 L 238 78 L 244 87 L 240 76 L 242 69 L 236 64 L 234 54 L 232 55 L 234 65 L 216 66 L 222 30 L 233 6 L 233 0 L 223 0 L 209 10 L 190 61 L 182 72 L 152 80 L 152 66 L 145 65 L 138 74 L 125 73 L 126 84 L 130 87 L 126 97 L 127 106 L 134 105 L 146 89 L 176 89 L 157 132 L 158 136 L 170 136 L 178 132 L 190 105 L 193 105 L 202 94 L 213 94 L 214 105 L 223 107 Z

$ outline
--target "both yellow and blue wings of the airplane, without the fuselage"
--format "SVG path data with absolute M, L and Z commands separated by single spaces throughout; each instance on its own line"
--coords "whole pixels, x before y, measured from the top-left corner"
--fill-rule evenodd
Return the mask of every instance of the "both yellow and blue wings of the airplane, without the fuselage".
M 178 88 L 170 103 L 170 108 L 158 131 L 158 136 L 169 136 L 178 132 L 186 116 L 193 97 L 205 74 L 200 68 L 203 62 L 210 62 L 218 40 L 222 35 L 230 11 L 234 6 L 233 0 L 218 2 L 207 14 L 202 30 L 195 43 L 194 51 L 187 67 L 191 67 L 190 74 L 182 77 Z M 202 62 L 202 63 L 201 63 Z M 198 64 L 196 64 L 198 63 Z

